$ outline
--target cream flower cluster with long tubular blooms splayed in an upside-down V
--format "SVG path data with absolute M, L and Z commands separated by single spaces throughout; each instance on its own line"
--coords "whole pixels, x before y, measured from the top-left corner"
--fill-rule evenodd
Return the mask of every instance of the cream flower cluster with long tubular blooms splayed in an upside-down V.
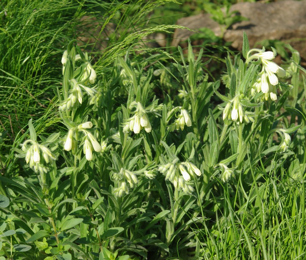
M 70 128 L 65 140 L 64 150 L 70 151 L 71 149 L 73 149 L 73 147 L 75 147 L 77 133 L 81 131 L 85 137 L 83 144 L 83 153 L 85 154 L 85 157 L 88 161 L 92 160 L 92 149 L 94 149 L 95 152 L 100 152 L 102 150 L 102 147 L 96 140 L 96 138 L 88 130 L 86 130 L 91 127 L 92 123 L 88 121 L 80 124 L 77 127 Z

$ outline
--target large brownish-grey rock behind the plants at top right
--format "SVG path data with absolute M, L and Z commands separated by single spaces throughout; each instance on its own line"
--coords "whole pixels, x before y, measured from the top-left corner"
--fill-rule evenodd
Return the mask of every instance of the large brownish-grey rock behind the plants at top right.
M 231 11 L 237 10 L 248 21 L 233 24 L 224 32 L 223 38 L 231 45 L 242 49 L 243 31 L 248 35 L 250 47 L 261 40 L 282 40 L 300 52 L 306 60 L 306 0 L 285 0 L 277 2 L 241 2 L 231 6 Z M 210 28 L 216 36 L 221 30 L 217 22 L 209 14 L 199 14 L 184 17 L 177 21 L 178 25 L 198 31 L 200 28 Z M 194 32 L 177 29 L 174 33 L 173 45 L 186 40 Z

